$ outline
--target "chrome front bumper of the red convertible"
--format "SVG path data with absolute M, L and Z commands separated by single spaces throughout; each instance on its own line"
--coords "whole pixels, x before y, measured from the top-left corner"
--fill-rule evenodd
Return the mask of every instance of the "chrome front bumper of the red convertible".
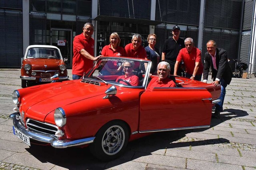
M 58 140 L 54 135 L 46 135 L 42 133 L 36 133 L 27 130 L 18 119 L 16 119 L 16 115 L 19 115 L 18 112 L 12 113 L 9 117 L 12 118 L 13 125 L 22 133 L 27 135 L 30 139 L 34 139 L 36 141 L 40 141 L 43 143 L 50 143 L 54 148 L 67 148 L 67 147 L 74 147 L 79 145 L 86 145 L 89 143 L 93 143 L 95 137 L 85 138 L 85 139 L 78 139 L 75 141 L 70 140 Z

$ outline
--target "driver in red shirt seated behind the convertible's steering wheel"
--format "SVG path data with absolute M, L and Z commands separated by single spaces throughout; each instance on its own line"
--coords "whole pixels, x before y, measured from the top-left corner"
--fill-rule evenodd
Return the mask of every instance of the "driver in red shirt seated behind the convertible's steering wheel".
M 134 68 L 134 62 L 124 62 L 122 63 L 122 69 L 124 71 L 124 75 L 119 76 L 116 79 L 116 82 L 120 82 L 122 84 L 127 84 L 129 86 L 139 86 L 140 80 L 138 76 L 134 75 L 132 70 Z

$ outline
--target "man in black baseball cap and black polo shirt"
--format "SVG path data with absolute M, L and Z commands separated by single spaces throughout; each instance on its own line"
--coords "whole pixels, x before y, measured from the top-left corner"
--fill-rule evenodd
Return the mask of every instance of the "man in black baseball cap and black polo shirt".
M 166 61 L 170 64 L 170 74 L 174 74 L 174 65 L 176 63 L 177 56 L 182 48 L 185 48 L 184 40 L 180 38 L 180 27 L 175 25 L 172 28 L 172 37 L 164 41 L 162 48 L 162 61 Z M 181 75 L 181 69 L 177 71 L 178 76 Z

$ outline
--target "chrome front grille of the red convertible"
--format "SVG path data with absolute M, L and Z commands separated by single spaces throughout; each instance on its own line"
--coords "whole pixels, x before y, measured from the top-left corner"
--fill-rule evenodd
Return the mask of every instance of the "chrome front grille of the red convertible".
M 45 123 L 41 121 L 36 121 L 33 119 L 28 119 L 26 121 L 26 125 L 28 130 L 36 131 L 40 133 L 55 135 L 56 131 L 58 130 L 58 126 L 52 125 L 50 123 Z

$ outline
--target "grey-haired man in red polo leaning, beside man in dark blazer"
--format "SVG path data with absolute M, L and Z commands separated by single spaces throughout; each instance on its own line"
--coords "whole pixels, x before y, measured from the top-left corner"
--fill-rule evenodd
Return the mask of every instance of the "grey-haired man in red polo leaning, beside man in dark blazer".
M 194 47 L 194 41 L 192 38 L 186 38 L 184 42 L 186 48 L 181 49 L 178 54 L 174 66 L 174 76 L 177 76 L 178 65 L 183 60 L 186 67 L 185 77 L 201 81 L 204 70 L 204 66 L 201 61 L 201 51 Z

